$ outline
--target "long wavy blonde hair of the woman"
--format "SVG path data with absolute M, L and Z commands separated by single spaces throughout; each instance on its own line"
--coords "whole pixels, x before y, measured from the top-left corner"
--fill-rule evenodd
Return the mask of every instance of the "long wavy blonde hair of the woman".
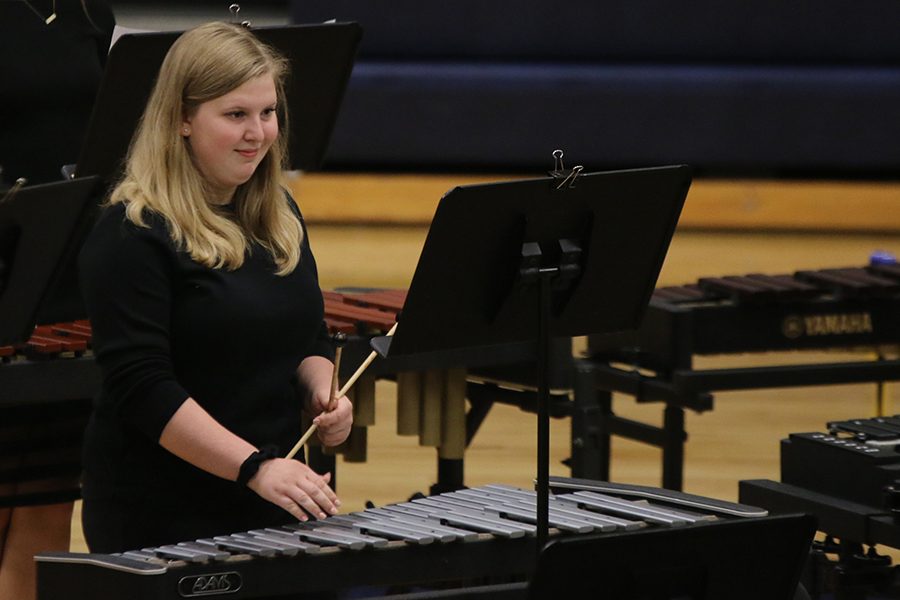
M 207 267 L 237 269 L 252 239 L 271 253 L 277 274 L 293 271 L 303 229 L 284 192 L 287 72 L 286 59 L 242 26 L 207 23 L 182 34 L 160 68 L 110 204 L 125 203 L 127 218 L 142 227 L 145 211 L 161 215 L 175 244 Z M 204 102 L 260 75 L 275 81 L 279 132 L 251 178 L 235 191 L 235 222 L 206 202 L 208 184 L 181 125 Z

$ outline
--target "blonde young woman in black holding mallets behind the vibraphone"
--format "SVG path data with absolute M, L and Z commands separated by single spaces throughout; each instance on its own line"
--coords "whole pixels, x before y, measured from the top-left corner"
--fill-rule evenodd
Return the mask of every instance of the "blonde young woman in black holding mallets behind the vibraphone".
M 324 518 L 329 475 L 278 458 L 350 431 L 315 260 L 281 185 L 286 61 L 224 23 L 160 69 L 122 181 L 82 250 L 103 388 L 84 452 L 83 526 L 114 552 Z

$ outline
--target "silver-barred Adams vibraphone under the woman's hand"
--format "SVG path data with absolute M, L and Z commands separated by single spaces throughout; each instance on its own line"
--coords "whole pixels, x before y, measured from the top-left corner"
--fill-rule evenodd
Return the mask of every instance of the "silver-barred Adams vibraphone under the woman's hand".
M 551 496 L 551 536 L 616 535 L 765 515 L 668 490 L 557 481 L 567 482 L 572 489 L 563 485 Z M 524 580 L 534 567 L 535 515 L 533 491 L 486 485 L 120 554 L 39 554 L 38 598 L 105 600 L 122 597 L 123 589 L 135 599 L 265 598 L 492 576 Z

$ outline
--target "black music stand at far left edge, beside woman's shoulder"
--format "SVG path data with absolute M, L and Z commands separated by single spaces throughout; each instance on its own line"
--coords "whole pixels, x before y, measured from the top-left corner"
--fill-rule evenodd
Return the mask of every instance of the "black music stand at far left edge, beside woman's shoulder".
M 0 203 L 0 346 L 84 316 L 67 277 L 102 190 L 97 177 L 22 188 Z

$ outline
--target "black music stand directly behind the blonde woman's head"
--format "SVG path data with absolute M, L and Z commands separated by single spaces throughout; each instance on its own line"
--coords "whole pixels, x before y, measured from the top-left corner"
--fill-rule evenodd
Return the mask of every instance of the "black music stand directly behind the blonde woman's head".
M 287 80 L 289 156 L 294 169 L 320 166 L 337 120 L 362 29 L 356 23 L 252 28 L 291 63 Z M 91 113 L 79 177 L 114 181 L 166 52 L 182 32 L 132 33 L 110 50 Z

